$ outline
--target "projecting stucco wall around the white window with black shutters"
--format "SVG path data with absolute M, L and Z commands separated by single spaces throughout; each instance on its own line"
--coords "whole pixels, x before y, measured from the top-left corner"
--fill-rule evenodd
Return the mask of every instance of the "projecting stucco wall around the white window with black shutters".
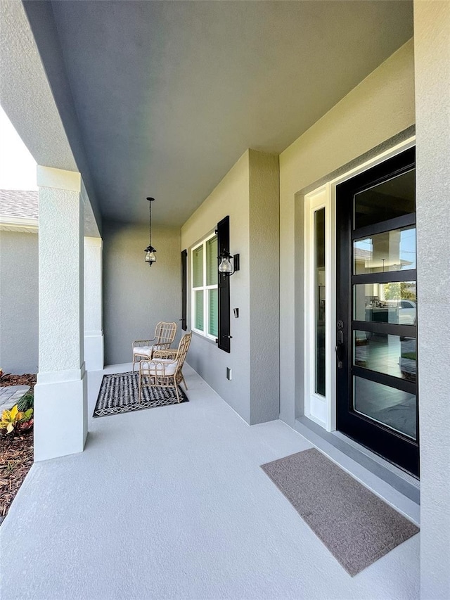
M 247 423 L 261 423 L 278 418 L 278 156 L 246 151 L 184 224 L 188 290 L 190 249 L 226 215 L 229 251 L 240 255 L 240 271 L 230 280 L 231 352 L 194 333 L 188 362 Z

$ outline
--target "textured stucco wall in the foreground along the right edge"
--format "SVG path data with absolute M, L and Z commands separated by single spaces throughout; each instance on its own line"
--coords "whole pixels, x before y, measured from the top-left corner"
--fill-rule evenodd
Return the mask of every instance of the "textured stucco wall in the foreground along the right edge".
M 450 4 L 414 2 L 420 597 L 450 597 Z

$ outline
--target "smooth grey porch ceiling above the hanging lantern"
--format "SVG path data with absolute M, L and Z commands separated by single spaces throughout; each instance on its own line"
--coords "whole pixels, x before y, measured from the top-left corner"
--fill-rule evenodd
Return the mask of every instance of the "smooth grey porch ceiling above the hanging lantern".
M 406 0 L 51 7 L 96 198 L 127 222 L 154 196 L 154 222 L 183 224 L 246 148 L 283 151 L 413 34 Z

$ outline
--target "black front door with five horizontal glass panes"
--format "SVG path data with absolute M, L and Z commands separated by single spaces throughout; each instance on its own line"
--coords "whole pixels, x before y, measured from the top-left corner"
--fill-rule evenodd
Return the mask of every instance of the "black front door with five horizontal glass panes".
M 336 189 L 337 428 L 418 476 L 415 150 Z

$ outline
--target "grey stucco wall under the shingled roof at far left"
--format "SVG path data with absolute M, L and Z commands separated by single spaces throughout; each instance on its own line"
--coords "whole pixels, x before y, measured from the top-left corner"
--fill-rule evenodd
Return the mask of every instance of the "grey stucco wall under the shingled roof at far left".
M 38 236 L 0 231 L 0 368 L 38 371 Z

